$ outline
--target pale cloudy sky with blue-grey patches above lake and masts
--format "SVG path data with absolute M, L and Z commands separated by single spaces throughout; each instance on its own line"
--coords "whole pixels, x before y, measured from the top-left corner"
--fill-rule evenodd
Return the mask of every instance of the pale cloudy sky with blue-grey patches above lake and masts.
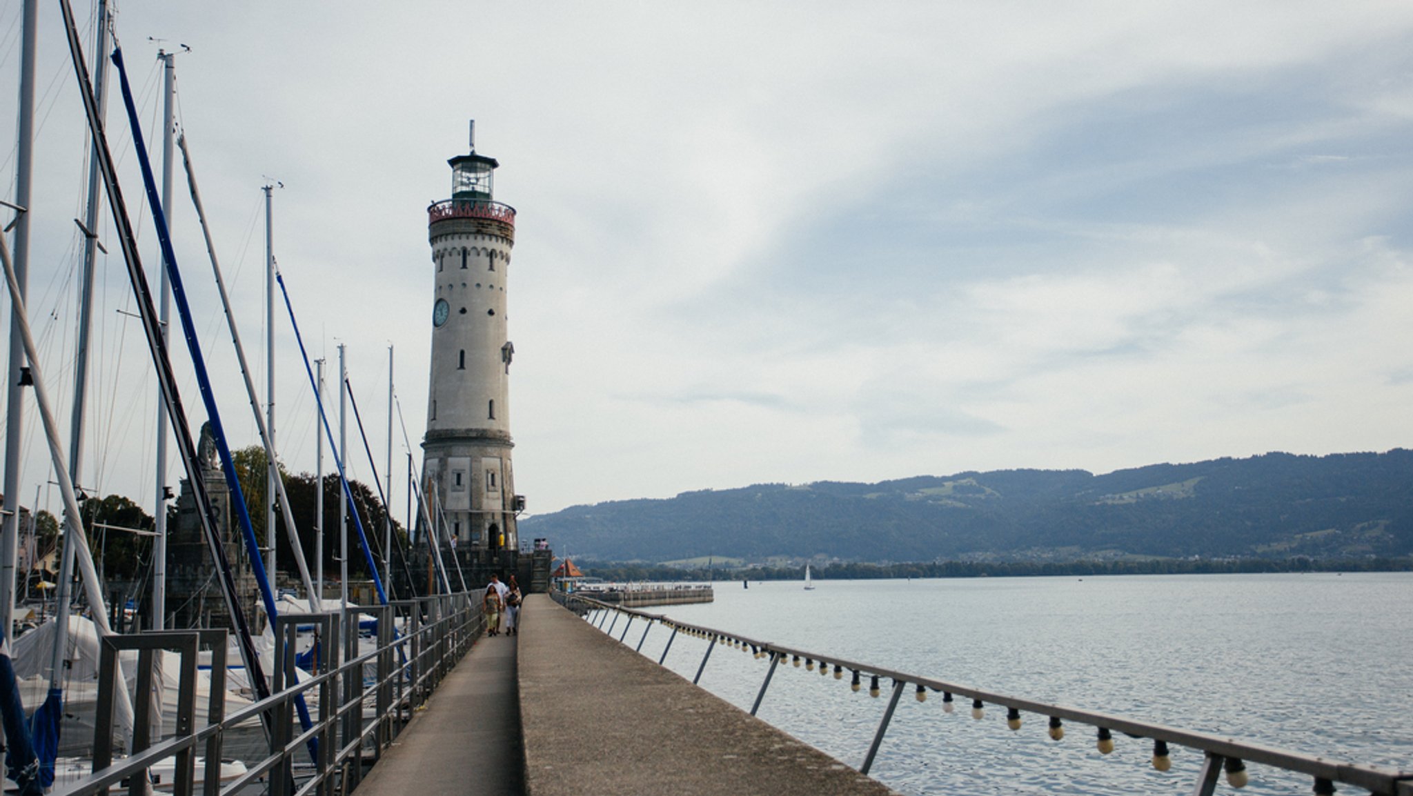
M 40 6 L 28 301 L 66 417 L 86 143 L 58 4 Z M 76 7 L 86 51 L 93 13 Z M 7 198 L 18 17 L 0 7 Z M 471 119 L 517 209 L 530 513 L 1413 444 L 1407 3 L 150 1 L 120 4 L 116 33 L 154 157 L 157 52 L 179 51 L 178 126 L 261 396 L 261 185 L 283 185 L 276 260 L 332 404 L 346 346 L 384 478 L 393 346 L 398 516 L 425 430 L 425 208 Z M 222 419 L 256 444 L 179 164 L 168 212 Z M 148 505 L 155 379 L 106 211 L 102 235 L 81 481 Z M 283 310 L 274 327 L 277 447 L 312 472 L 312 389 Z M 58 512 L 25 411 L 21 495 Z

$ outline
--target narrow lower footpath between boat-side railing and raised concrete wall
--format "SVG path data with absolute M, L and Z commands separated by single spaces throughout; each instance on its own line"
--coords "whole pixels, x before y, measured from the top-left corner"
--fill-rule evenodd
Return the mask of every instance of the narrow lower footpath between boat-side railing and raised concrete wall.
M 519 636 L 480 638 L 357 786 L 359 796 L 519 796 Z

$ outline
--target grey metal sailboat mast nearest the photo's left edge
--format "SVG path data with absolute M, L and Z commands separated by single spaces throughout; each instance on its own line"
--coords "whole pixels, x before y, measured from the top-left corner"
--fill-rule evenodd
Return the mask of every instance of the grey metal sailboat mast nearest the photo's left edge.
M 14 221 L 14 276 L 20 297 L 25 294 L 30 271 L 30 185 L 34 156 L 34 59 L 38 38 L 40 7 L 24 0 L 20 11 L 20 117 L 16 144 L 14 204 L 21 208 Z M 4 526 L 0 529 L 0 631 L 10 638 L 14 626 L 14 561 L 20 551 L 20 444 L 24 438 L 24 341 L 20 318 L 10 314 L 10 373 L 7 377 L 4 440 Z

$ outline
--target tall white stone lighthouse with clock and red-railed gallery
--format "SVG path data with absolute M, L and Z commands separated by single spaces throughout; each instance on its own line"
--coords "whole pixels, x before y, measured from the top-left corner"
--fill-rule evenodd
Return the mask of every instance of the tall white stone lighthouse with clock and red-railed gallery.
M 451 198 L 427 208 L 437 288 L 422 479 L 431 516 L 445 523 L 458 556 L 469 550 L 495 567 L 513 560 L 499 554 L 519 549 L 516 512 L 524 508 L 510 468 L 514 346 L 506 334 L 516 211 L 493 199 L 500 164 L 476 154 L 475 122 L 471 153 L 447 163 Z

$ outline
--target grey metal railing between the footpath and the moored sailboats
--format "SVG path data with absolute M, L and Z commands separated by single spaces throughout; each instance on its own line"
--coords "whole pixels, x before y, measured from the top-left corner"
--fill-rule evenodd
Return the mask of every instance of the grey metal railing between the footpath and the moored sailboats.
M 366 653 L 348 656 L 338 662 L 338 650 L 356 649 L 357 614 L 377 615 L 377 645 Z M 471 645 L 485 629 L 480 602 L 471 594 L 406 599 L 386 607 L 349 608 L 346 615 L 355 619 L 339 622 L 339 619 L 345 619 L 343 612 L 339 611 L 315 615 L 332 619 L 333 626 L 338 628 L 339 638 L 328 638 L 322 642 L 328 646 L 325 655 L 332 655 L 331 660 L 336 665 L 331 663 L 329 669 L 302 681 L 290 683 L 267 698 L 235 710 L 216 722 L 192 727 L 189 732 L 151 744 L 75 783 L 55 788 L 54 795 L 106 795 L 109 788 L 129 780 L 129 793 L 136 796 L 146 792 L 146 772 L 154 763 L 179 754 L 196 754 L 201 749 L 205 749 L 208 756 L 215 754 L 219 762 L 220 738 L 226 731 L 252 718 L 264 720 L 267 717 L 274 718 L 267 727 L 273 727 L 276 731 L 270 739 L 270 754 L 260 759 L 244 761 L 246 772 L 225 785 L 208 779 L 203 782 L 206 796 L 235 796 L 261 779 L 267 780 L 266 792 L 273 795 L 307 796 L 318 793 L 333 796 L 335 793 L 346 793 L 362 776 L 365 755 L 372 752 L 376 759 L 391 745 L 401 728 L 407 725 L 413 711 L 427 701 L 437 684 L 469 652 Z M 397 619 L 404 619 L 406 626 L 404 632 L 394 638 L 391 628 Z M 195 645 L 195 642 L 185 639 L 201 633 L 201 631 L 165 631 L 122 638 L 126 645 L 141 643 L 154 649 L 177 649 L 178 645 Z M 283 645 L 277 635 L 277 660 L 281 656 Z M 100 670 L 100 681 L 114 674 L 112 667 L 116 666 L 116 655 L 110 657 L 110 660 L 105 659 L 110 667 Z M 376 676 L 372 681 L 365 683 L 363 674 L 369 665 L 376 665 Z M 194 683 L 184 681 L 181 686 L 182 693 L 194 689 Z M 309 728 L 290 732 L 294 700 L 302 694 L 314 697 L 319 706 L 319 715 Z M 189 704 L 191 696 L 179 697 L 179 703 L 184 698 L 182 704 Z M 366 725 L 362 725 L 362 715 L 357 711 L 362 711 L 369 700 L 376 700 L 377 714 Z M 100 714 L 105 710 L 102 697 L 99 710 Z M 112 710 L 110 703 L 107 710 Z M 284 721 L 283 727 L 281 720 Z M 297 761 L 309 758 L 307 749 L 309 749 L 311 741 L 328 742 L 328 748 L 319 749 L 318 761 L 312 768 L 300 765 L 298 779 L 302 782 L 298 782 L 297 788 L 288 788 L 288 785 L 295 783 L 288 782 L 287 776 L 295 771 Z M 209 773 L 215 773 L 215 769 Z M 187 778 L 178 779 L 174 783 L 177 793 L 195 793 L 194 778 L 195 772 L 191 771 Z

